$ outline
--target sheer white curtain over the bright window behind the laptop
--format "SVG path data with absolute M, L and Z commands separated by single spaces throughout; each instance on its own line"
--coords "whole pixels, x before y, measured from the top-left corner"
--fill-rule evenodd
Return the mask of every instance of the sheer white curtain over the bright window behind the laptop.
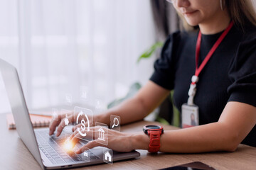
M 18 69 L 28 108 L 80 102 L 106 106 L 153 72 L 149 0 L 0 0 L 0 57 Z M 11 111 L 0 78 L 0 113 Z

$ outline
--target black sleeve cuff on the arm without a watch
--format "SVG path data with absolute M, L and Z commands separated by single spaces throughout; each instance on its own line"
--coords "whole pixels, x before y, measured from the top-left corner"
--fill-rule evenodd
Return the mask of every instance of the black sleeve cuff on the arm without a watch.
M 158 84 L 159 86 L 163 87 L 167 90 L 174 89 L 173 86 L 168 86 L 167 84 L 171 84 L 171 77 L 165 77 L 163 74 L 159 74 L 157 72 L 154 72 L 154 74 L 150 77 L 151 81 L 153 81 L 155 84 Z

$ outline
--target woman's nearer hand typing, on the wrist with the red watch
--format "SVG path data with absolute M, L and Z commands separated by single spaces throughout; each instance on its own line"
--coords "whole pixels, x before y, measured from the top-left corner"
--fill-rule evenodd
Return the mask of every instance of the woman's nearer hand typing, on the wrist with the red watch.
M 87 149 L 98 146 L 108 147 L 117 152 L 130 152 L 134 149 L 147 149 L 149 146 L 149 137 L 144 135 L 142 132 L 127 133 L 103 128 L 103 130 L 107 132 L 107 134 L 105 134 L 105 139 L 108 139 L 108 144 L 106 146 L 101 144 L 97 139 L 96 133 L 98 132 L 98 129 L 98 127 L 90 128 L 90 131 L 87 132 L 86 137 L 89 139 L 92 139 L 93 137 L 93 140 L 75 151 L 76 154 L 81 154 Z M 73 146 L 75 146 L 80 141 L 80 138 L 86 139 L 86 137 L 82 137 L 78 132 L 78 129 L 76 129 L 75 132 L 73 132 L 73 134 L 70 136 L 69 140 Z

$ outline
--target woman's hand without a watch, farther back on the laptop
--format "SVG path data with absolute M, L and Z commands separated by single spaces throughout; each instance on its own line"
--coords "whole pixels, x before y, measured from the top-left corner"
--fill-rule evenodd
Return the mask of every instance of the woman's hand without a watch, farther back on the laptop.
M 66 117 L 66 114 L 60 114 L 57 116 L 57 118 L 53 118 L 53 120 L 50 122 L 50 125 L 49 125 L 49 135 L 53 135 L 53 132 L 55 132 L 55 129 L 56 127 L 58 126 L 57 128 L 57 132 L 56 132 L 56 136 L 58 137 L 61 132 L 63 131 L 63 128 L 65 128 L 66 124 L 65 124 L 65 118 L 68 118 L 68 124 L 70 123 L 74 123 L 75 122 L 75 118 L 77 118 L 78 116 L 78 113 L 67 113 L 67 117 Z M 90 120 L 90 126 L 93 125 L 93 123 L 95 123 L 95 121 L 97 121 L 97 116 L 94 116 L 93 117 L 93 122 L 91 121 L 92 120 L 92 116 L 90 115 L 87 115 L 89 120 Z M 82 119 L 82 118 L 80 118 Z M 79 121 L 81 121 L 79 119 Z M 79 125 L 77 125 L 77 127 L 79 127 Z M 74 128 L 73 128 L 74 130 Z

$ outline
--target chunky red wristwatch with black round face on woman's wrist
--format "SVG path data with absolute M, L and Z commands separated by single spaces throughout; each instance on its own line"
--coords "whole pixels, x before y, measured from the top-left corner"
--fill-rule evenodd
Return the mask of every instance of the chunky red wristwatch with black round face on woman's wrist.
M 146 125 L 143 128 L 143 132 L 149 135 L 149 152 L 159 152 L 161 147 L 160 136 L 164 133 L 163 127 L 159 125 Z

